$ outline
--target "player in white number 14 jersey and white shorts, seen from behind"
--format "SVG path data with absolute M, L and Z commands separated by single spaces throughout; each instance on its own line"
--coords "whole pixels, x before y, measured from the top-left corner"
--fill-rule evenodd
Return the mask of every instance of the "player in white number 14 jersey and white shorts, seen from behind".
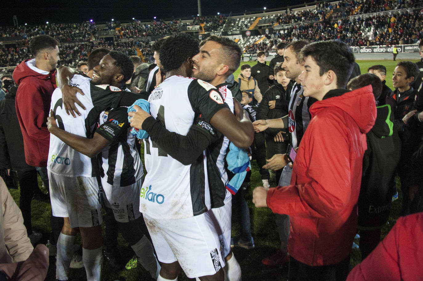
M 212 50 L 213 48 L 209 49 L 210 52 Z M 142 193 L 140 210 L 144 214 L 159 260 L 164 262 L 157 280 L 176 280 L 181 267 L 190 278 L 200 276 L 201 280 L 223 280 L 220 268 L 224 262 L 218 250 L 221 247 L 220 241 L 216 227 L 210 224 L 214 214 L 209 210 L 211 201 L 215 198 L 211 198 L 209 182 L 205 180 L 208 170 L 205 168 L 206 159 L 202 151 L 216 134 L 209 123 L 239 147 L 248 147 L 252 141 L 253 132 L 245 133 L 238 128 L 240 122 L 215 87 L 202 80 L 186 78 L 192 72 L 190 57 L 197 53 L 198 43 L 189 35 L 175 35 L 166 39 L 160 48 L 160 60 L 166 71 L 166 79 L 149 98 L 151 115 L 158 120 L 140 109 L 129 113 L 132 116 L 131 125 L 143 128 L 149 134 L 145 150 L 148 174 L 143 189 L 146 187 L 145 193 L 148 190 L 150 194 L 153 193 L 152 196 L 157 195 L 157 200 L 154 202 L 153 198 L 147 198 Z M 201 55 L 206 57 L 204 53 Z M 222 63 L 214 66 L 216 71 L 228 68 L 228 65 Z M 236 68 L 231 66 L 231 70 L 234 69 Z M 222 69 L 220 75 L 226 71 Z M 222 80 L 224 81 L 225 79 Z M 175 123 L 175 120 L 180 121 Z M 159 123 L 182 135 L 190 131 L 201 132 L 203 141 L 191 143 L 190 154 L 195 156 L 193 162 L 192 159 L 186 159 L 181 163 L 174 159 L 181 153 L 178 144 L 174 145 L 169 154 L 162 150 L 157 144 L 160 139 L 160 134 L 157 133 Z M 248 123 L 244 121 L 244 125 L 248 126 Z M 162 169 L 175 171 L 175 175 L 165 178 L 159 176 L 157 173 Z M 169 188 L 170 185 L 177 188 Z M 221 199 L 225 197 L 225 192 L 222 195 Z M 195 227 L 190 226 L 192 224 Z M 190 232 L 184 231 L 187 228 Z M 184 251 L 181 251 L 181 247 Z

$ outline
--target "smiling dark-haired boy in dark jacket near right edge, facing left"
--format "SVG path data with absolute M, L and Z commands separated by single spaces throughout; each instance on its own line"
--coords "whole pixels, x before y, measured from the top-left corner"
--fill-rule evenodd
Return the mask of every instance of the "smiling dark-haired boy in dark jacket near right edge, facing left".
M 392 84 L 395 90 L 386 97 L 386 104 L 389 104 L 392 108 L 402 142 L 401 158 L 397 167 L 403 192 L 402 215 L 410 213 L 410 181 L 414 177 L 413 174 L 420 173 L 420 171 L 412 169 L 412 166 L 414 166 L 412 155 L 420 144 L 422 126 L 415 118 L 412 118 L 407 125 L 402 121 L 402 118 L 412 110 L 417 109 L 419 112 L 423 110 L 421 93 L 418 93 L 411 86 L 418 75 L 419 69 L 415 63 L 410 61 L 398 63 L 392 76 Z

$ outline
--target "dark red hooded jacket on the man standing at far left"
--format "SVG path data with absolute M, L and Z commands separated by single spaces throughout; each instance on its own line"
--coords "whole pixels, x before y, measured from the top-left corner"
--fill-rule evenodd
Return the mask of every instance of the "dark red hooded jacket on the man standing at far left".
M 56 88 L 55 72 L 39 74 L 22 61 L 13 72 L 19 85 L 16 92 L 16 115 L 24 139 L 25 160 L 28 165 L 46 167 L 50 133 L 47 130 L 52 93 Z

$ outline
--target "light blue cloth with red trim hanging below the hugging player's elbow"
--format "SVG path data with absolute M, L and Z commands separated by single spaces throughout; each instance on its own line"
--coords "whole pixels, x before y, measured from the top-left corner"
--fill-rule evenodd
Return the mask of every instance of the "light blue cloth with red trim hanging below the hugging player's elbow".
M 231 142 L 229 152 L 226 154 L 226 162 L 228 162 L 228 169 L 235 174 L 226 188 L 231 194 L 236 194 L 244 182 L 245 175 L 251 169 L 250 158 L 244 149 L 236 147 Z

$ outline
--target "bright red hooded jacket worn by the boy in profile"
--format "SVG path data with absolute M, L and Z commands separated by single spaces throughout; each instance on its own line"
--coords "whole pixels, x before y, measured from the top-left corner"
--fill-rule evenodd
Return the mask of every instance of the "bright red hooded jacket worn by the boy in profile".
M 331 265 L 349 255 L 357 229 L 365 134 L 376 120 L 372 88 L 317 101 L 310 114 L 291 184 L 270 188 L 267 205 L 290 216 L 288 252 L 294 259 Z

